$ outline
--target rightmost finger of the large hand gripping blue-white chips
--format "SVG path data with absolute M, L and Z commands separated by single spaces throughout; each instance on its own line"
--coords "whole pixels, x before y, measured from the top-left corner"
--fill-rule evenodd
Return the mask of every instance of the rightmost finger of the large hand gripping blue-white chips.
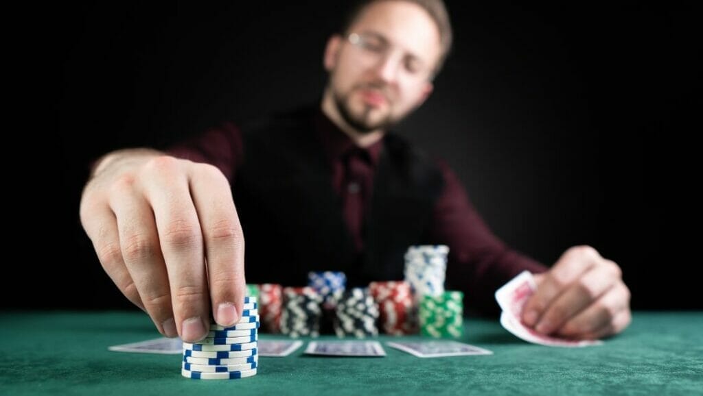
M 245 296 L 244 237 L 227 179 L 214 166 L 192 168 L 193 204 L 205 242 L 212 315 L 222 326 L 236 323 Z

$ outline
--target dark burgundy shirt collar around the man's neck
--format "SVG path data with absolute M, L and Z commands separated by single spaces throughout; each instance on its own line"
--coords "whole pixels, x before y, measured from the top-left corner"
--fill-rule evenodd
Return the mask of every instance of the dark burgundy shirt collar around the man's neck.
M 327 154 L 330 164 L 334 164 L 336 161 L 341 161 L 344 154 L 353 150 L 356 146 L 354 140 L 349 138 L 344 131 L 342 131 L 332 120 L 327 117 L 322 110 L 316 112 L 315 126 L 320 137 L 320 141 Z M 383 147 L 383 139 L 378 140 L 378 142 L 373 143 L 369 147 L 357 147 L 359 150 L 366 152 L 368 154 L 368 159 L 370 159 L 371 166 L 375 167 L 378 165 L 378 159 L 381 156 L 381 148 Z

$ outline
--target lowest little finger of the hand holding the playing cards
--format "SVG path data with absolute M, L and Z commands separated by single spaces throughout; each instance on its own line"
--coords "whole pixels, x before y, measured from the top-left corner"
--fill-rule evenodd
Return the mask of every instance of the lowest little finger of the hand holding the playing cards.
M 597 339 L 623 331 L 631 322 L 630 291 L 617 282 L 586 310 L 569 319 L 558 334 L 569 338 Z

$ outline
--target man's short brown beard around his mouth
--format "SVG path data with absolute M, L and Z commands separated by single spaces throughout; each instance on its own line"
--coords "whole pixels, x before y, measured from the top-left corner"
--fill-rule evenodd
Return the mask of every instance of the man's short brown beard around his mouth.
M 352 94 L 354 91 L 364 88 L 378 89 L 384 93 L 386 98 L 388 98 L 385 88 L 379 84 L 361 84 L 359 86 L 355 86 L 349 91 L 349 93 L 344 95 L 333 89 L 332 97 L 335 107 L 337 107 L 337 112 L 339 112 L 340 116 L 342 116 L 344 122 L 362 134 L 378 130 L 387 130 L 394 126 L 399 119 L 394 118 L 390 110 L 388 110 L 388 113 L 385 114 L 385 116 L 380 117 L 379 119 L 373 118 L 372 113 L 374 109 L 369 105 L 364 105 L 361 112 L 354 112 L 352 110 L 352 105 L 350 103 L 352 100 Z

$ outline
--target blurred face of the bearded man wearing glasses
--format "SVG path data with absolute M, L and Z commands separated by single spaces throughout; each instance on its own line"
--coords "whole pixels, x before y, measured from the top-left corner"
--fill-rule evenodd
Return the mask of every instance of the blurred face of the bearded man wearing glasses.
M 325 51 L 328 94 L 357 131 L 387 129 L 432 92 L 437 25 L 416 4 L 380 1 L 367 6 L 347 34 L 330 39 Z

